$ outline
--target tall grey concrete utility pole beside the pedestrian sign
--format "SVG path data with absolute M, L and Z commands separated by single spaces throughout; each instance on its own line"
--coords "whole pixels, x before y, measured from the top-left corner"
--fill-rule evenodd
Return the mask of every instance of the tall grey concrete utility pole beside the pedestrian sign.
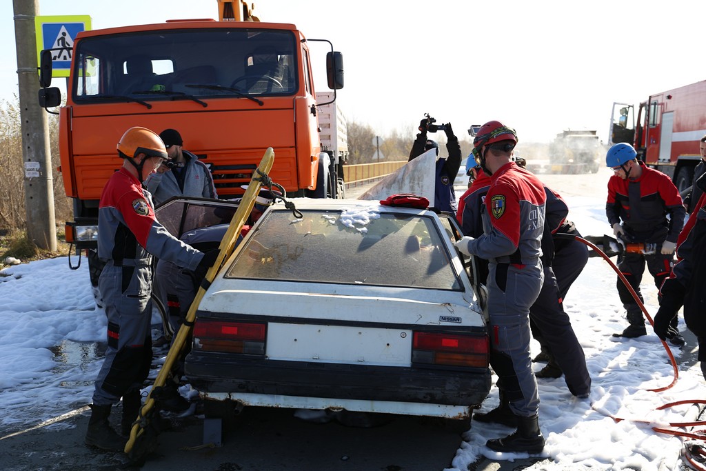
M 20 85 L 22 155 L 25 162 L 25 212 L 27 237 L 42 249 L 56 251 L 54 217 L 54 177 L 49 148 L 49 122 L 37 101 L 40 89 L 37 75 L 35 16 L 39 0 L 13 0 L 17 74 Z

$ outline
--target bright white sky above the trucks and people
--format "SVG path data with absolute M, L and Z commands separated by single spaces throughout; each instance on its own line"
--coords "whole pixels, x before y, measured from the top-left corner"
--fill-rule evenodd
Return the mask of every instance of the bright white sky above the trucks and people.
M 11 1 L 0 2 L 0 98 L 17 90 Z M 41 15 L 90 15 L 93 28 L 217 18 L 215 0 L 41 0 Z M 385 135 L 414 136 L 429 112 L 457 136 L 500 119 L 520 141 L 596 129 L 605 141 L 614 101 L 706 78 L 706 2 L 260 0 L 264 21 L 294 23 L 344 54 L 339 105 Z M 328 47 L 328 44 L 327 44 Z M 323 44 L 318 56 L 325 56 Z M 314 49 L 315 53 L 317 49 Z M 316 66 L 316 64 L 315 64 Z M 318 91 L 325 91 L 323 62 Z M 61 79 L 63 80 L 63 79 Z

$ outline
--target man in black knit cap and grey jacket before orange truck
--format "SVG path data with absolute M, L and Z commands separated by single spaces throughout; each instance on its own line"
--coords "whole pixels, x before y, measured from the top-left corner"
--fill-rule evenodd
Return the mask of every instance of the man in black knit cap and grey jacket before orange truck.
M 164 129 L 160 138 L 167 148 L 169 160 L 145 181 L 155 205 L 174 196 L 217 198 L 210 170 L 196 155 L 184 150 L 179 131 Z

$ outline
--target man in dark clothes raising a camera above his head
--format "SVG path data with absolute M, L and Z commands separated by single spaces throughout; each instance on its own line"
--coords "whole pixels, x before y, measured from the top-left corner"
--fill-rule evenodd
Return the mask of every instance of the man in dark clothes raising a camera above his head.
M 427 150 L 436 150 L 436 179 L 434 181 L 434 205 L 431 209 L 438 211 L 446 211 L 456 214 L 456 193 L 453 191 L 453 181 L 456 178 L 458 169 L 461 167 L 461 146 L 458 144 L 458 138 L 454 135 L 451 129 L 451 123 L 434 124 L 436 119 L 433 119 L 429 114 L 419 121 L 419 134 L 417 139 L 412 144 L 412 150 L 409 151 L 409 161 L 422 155 Z M 448 157 L 439 157 L 439 145 L 436 141 L 426 138 L 426 132 L 436 133 L 436 131 L 444 131 L 446 133 L 446 150 Z

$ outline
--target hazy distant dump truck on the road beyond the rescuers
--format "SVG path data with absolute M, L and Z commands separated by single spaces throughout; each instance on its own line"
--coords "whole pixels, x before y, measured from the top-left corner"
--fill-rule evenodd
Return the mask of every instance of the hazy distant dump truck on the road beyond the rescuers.
M 549 168 L 552 173 L 596 173 L 602 155 L 597 131 L 567 130 L 556 135 L 549 146 Z

